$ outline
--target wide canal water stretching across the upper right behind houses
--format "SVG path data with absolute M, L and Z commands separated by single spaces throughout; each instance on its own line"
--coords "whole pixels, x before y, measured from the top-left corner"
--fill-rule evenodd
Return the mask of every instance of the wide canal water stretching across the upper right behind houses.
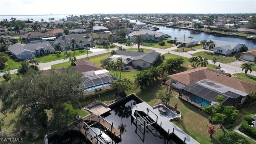
M 136 22 L 136 20 L 130 20 L 130 22 Z M 138 21 L 136 23 L 142 23 L 141 21 Z M 152 25 L 156 26 L 159 28 L 156 32 L 163 32 L 164 34 L 168 34 L 169 36 L 174 37 L 189 37 L 192 36 L 194 39 L 199 40 L 222 40 L 222 41 L 228 41 L 228 42 L 237 42 L 240 44 L 244 44 L 250 48 L 256 48 L 256 40 L 248 40 L 244 37 L 237 37 L 237 36 L 226 36 L 226 35 L 221 35 L 221 34 L 208 34 L 200 31 L 194 31 L 194 30 L 186 30 L 182 28 L 168 28 L 166 26 L 157 26 L 157 25 Z

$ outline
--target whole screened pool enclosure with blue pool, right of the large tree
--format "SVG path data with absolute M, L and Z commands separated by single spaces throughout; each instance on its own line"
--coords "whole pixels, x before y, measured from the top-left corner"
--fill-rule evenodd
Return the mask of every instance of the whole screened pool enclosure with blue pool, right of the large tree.
M 85 91 L 102 90 L 112 85 L 116 77 L 108 72 L 108 70 L 96 70 L 82 73 L 83 83 L 82 87 Z

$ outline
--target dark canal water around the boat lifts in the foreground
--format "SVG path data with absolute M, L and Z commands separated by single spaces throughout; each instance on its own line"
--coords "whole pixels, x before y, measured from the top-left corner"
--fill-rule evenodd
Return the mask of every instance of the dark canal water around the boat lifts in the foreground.
M 169 139 L 167 140 L 167 132 L 161 130 L 160 126 L 156 126 L 155 129 L 146 132 L 144 136 L 143 133 L 138 130 L 139 127 L 137 127 L 136 132 L 135 120 L 131 116 L 130 108 L 132 104 L 138 104 L 139 102 L 141 102 L 141 100 L 135 99 L 134 96 L 125 98 L 123 101 L 110 106 L 112 109 L 110 112 L 101 115 L 105 120 L 113 123 L 114 128 L 120 130 L 122 133 L 121 142 L 116 142 L 116 144 L 167 144 L 167 141 L 168 144 L 183 143 L 183 141 L 175 135 L 169 136 Z M 98 128 L 93 129 L 96 132 L 99 131 Z M 89 133 L 93 134 L 92 132 Z M 106 134 L 102 134 L 101 140 L 99 141 L 102 144 L 106 144 L 106 142 L 115 144 L 115 142 Z M 89 144 L 89 142 L 86 142 L 84 136 L 78 133 L 78 131 L 66 132 L 65 136 L 61 137 L 57 135 L 50 138 L 48 137 L 48 142 L 49 144 Z

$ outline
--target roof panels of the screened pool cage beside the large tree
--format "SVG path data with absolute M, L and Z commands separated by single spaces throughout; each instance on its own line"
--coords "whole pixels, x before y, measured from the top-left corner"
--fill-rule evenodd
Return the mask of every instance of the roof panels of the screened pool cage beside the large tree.
M 116 77 L 114 77 L 112 74 L 108 72 L 108 70 L 96 70 L 96 71 L 88 71 L 88 72 L 82 72 L 83 77 L 83 88 L 89 88 L 92 86 L 97 86 L 100 84 L 105 84 L 108 82 L 113 82 L 116 80 Z

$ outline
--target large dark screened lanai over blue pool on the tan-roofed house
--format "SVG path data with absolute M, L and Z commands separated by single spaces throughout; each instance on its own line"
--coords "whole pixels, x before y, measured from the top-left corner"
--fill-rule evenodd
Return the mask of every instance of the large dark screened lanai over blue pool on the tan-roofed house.
M 223 101 L 216 100 L 218 95 L 224 96 Z M 198 82 L 190 82 L 187 86 L 180 88 L 179 98 L 190 102 L 198 108 L 220 103 L 224 106 L 234 106 L 236 103 L 241 103 L 242 98 L 248 94 L 228 86 L 224 86 L 217 82 L 208 79 Z

